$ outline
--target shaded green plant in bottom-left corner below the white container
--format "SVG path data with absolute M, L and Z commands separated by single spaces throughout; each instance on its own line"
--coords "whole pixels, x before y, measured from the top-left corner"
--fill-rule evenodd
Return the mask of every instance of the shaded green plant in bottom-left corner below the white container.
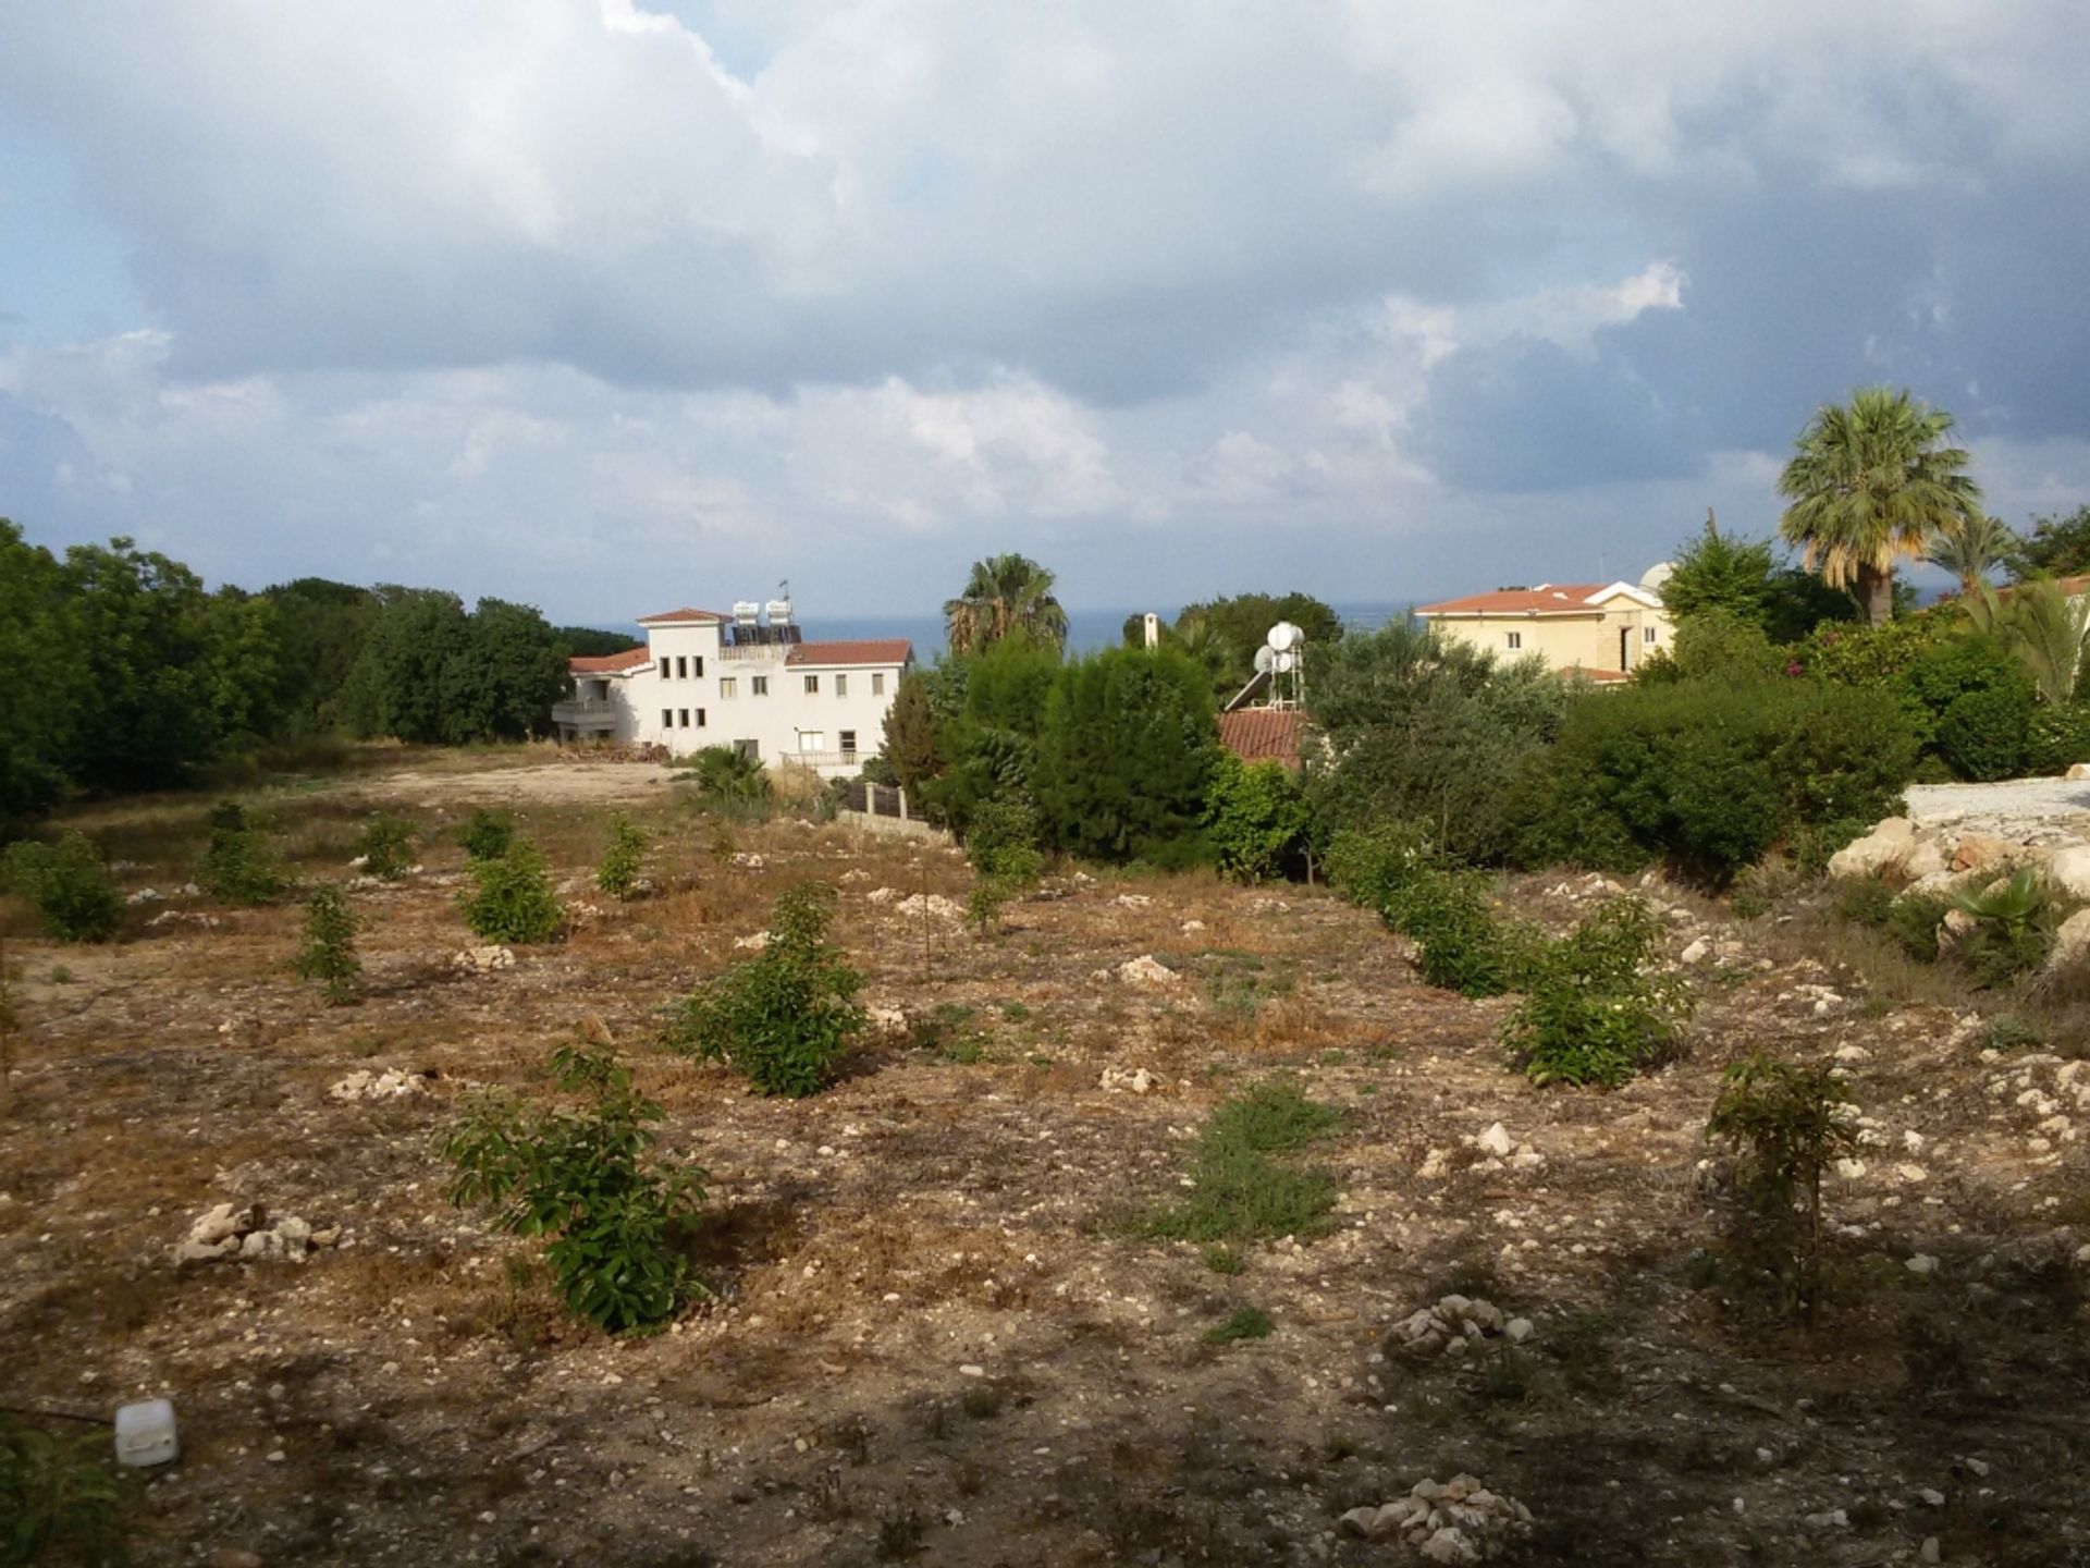
M 107 1432 L 59 1438 L 0 1411 L 0 1564 L 130 1562 L 132 1486 L 107 1449 Z

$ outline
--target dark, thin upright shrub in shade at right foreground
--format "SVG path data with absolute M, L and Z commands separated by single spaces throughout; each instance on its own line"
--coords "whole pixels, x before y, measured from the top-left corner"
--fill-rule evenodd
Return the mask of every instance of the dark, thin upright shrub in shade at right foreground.
M 1751 1056 L 1720 1075 L 1705 1137 L 1735 1152 L 1735 1192 L 1751 1221 L 1749 1250 L 1812 1321 L 1820 1296 L 1822 1171 L 1858 1150 L 1850 1089 L 1827 1064 Z

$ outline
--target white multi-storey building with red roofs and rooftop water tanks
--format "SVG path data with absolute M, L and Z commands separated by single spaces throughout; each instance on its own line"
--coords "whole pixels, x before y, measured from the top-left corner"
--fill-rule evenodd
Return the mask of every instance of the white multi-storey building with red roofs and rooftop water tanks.
M 734 613 L 642 615 L 646 646 L 575 659 L 573 696 L 552 705 L 562 740 L 736 746 L 846 778 L 884 746 L 886 713 L 913 663 L 905 638 L 807 642 L 790 600 Z

